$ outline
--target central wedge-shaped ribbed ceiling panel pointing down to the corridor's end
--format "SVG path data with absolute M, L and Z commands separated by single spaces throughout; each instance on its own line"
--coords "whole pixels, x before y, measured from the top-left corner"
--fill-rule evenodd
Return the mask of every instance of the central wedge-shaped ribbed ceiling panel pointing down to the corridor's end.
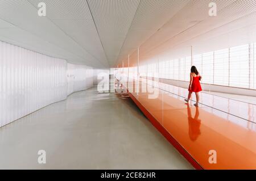
M 114 65 L 139 0 L 88 0 L 109 64 Z

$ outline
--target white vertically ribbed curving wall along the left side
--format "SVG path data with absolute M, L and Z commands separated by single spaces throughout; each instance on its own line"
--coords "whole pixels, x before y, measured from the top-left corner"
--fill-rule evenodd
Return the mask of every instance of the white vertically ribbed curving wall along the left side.
M 0 127 L 93 86 L 90 70 L 0 41 Z

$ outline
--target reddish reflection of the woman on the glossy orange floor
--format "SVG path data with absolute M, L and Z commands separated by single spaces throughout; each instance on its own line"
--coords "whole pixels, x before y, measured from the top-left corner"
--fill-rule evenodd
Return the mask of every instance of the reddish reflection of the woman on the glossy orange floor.
M 196 107 L 196 114 L 193 118 L 191 116 L 191 108 L 189 107 L 189 104 L 187 104 L 187 110 L 188 110 L 188 134 L 189 138 L 192 141 L 196 141 L 196 139 L 201 134 L 200 126 L 201 126 L 201 120 L 199 119 L 199 108 Z

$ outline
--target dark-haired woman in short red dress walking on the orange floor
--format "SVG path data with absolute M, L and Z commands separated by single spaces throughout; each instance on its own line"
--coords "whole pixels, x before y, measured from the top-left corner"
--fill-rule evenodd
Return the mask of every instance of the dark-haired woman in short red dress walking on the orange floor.
M 196 104 L 194 104 L 196 107 L 198 106 L 199 103 L 199 92 L 202 91 L 201 88 L 201 81 L 202 77 L 197 71 L 195 66 L 192 66 L 191 68 L 191 73 L 190 73 L 190 83 L 189 83 L 189 88 L 188 88 L 188 99 L 185 99 L 185 102 L 189 102 L 191 99 L 191 95 L 193 92 L 196 93 Z

